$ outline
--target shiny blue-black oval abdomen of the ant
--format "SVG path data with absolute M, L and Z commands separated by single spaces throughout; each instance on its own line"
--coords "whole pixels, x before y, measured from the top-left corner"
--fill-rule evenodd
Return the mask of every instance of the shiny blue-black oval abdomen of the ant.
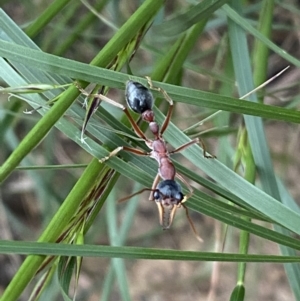
M 153 96 L 145 86 L 129 80 L 126 83 L 125 98 L 130 109 L 138 114 L 152 110 Z

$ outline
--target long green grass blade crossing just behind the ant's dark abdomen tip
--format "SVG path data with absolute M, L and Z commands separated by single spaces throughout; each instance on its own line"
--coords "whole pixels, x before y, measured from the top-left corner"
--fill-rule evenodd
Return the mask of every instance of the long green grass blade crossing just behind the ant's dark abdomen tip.
M 54 55 L 35 51 L 5 41 L 0 41 L 0 56 L 22 62 L 24 65 L 30 66 L 31 68 L 38 68 L 45 72 L 53 73 L 55 70 L 55 72 L 60 75 L 76 77 L 84 81 L 99 83 L 109 87 L 124 89 L 124 83 L 129 79 L 128 75 L 119 72 L 62 59 Z M 130 76 L 130 79 L 137 80 L 145 85 L 147 84 L 146 80 L 142 78 Z M 156 85 L 156 82 L 154 82 L 154 84 Z M 295 110 L 247 102 L 218 94 L 168 84 L 161 83 L 160 86 L 169 93 L 174 101 L 211 109 L 300 123 L 300 113 Z M 71 89 L 71 91 L 73 90 Z M 158 95 L 155 92 L 154 94 Z

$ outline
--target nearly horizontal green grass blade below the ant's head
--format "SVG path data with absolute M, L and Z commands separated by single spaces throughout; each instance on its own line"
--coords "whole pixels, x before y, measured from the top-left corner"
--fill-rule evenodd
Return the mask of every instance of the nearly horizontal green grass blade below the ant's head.
M 235 253 L 192 252 L 138 247 L 113 247 L 95 245 L 67 245 L 54 243 L 0 241 L 1 254 L 36 254 L 55 256 L 82 256 L 132 259 L 163 259 L 187 261 L 226 262 L 300 262 L 299 256 L 244 255 Z

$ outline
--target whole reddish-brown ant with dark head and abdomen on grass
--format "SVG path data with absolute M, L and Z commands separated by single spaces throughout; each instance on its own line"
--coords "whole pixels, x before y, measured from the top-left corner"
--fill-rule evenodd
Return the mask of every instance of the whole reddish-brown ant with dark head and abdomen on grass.
M 150 89 L 160 92 L 169 103 L 169 109 L 166 118 L 161 126 L 161 129 L 159 128 L 159 125 L 155 121 L 154 112 L 152 110 L 154 98 L 151 91 L 147 87 L 145 87 L 139 82 L 134 82 L 129 80 L 126 83 L 125 98 L 128 107 L 132 111 L 140 114 L 142 120 L 149 123 L 149 129 L 154 136 L 153 140 L 145 136 L 144 132 L 140 129 L 136 121 L 130 115 L 127 107 L 115 102 L 114 100 L 102 94 L 90 95 L 85 90 L 78 87 L 79 90 L 84 95 L 99 98 L 123 110 L 123 112 L 126 114 L 127 118 L 129 119 L 130 124 L 134 132 L 136 133 L 136 135 L 141 139 L 143 139 L 147 147 L 151 150 L 150 152 L 145 152 L 137 148 L 119 146 L 116 149 L 114 149 L 112 152 L 110 152 L 108 156 L 100 159 L 99 161 L 100 163 L 104 163 L 105 161 L 109 160 L 109 158 L 117 155 L 121 150 L 131 152 L 139 156 L 149 156 L 155 159 L 158 163 L 158 173 L 153 181 L 152 187 L 144 188 L 130 196 L 127 196 L 119 200 L 119 202 L 128 200 L 129 198 L 137 194 L 140 194 L 144 191 L 150 191 L 151 193 L 149 196 L 149 200 L 155 201 L 158 207 L 160 224 L 163 227 L 163 229 L 168 229 L 171 226 L 177 208 L 180 208 L 182 206 L 185 209 L 187 219 L 190 223 L 190 226 L 195 236 L 197 237 L 198 240 L 202 241 L 202 239 L 197 235 L 195 226 L 189 216 L 187 207 L 183 204 L 184 202 L 187 201 L 188 198 L 192 196 L 193 188 L 179 173 L 176 172 L 175 166 L 170 159 L 170 155 L 178 153 L 193 144 L 200 143 L 203 148 L 203 155 L 205 158 L 210 159 L 210 158 L 215 158 L 215 156 L 211 156 L 206 153 L 205 145 L 199 138 L 193 139 L 181 145 L 180 147 L 176 148 L 173 151 L 168 151 L 166 142 L 164 141 L 162 135 L 167 129 L 168 124 L 171 120 L 171 116 L 173 113 L 173 100 L 170 98 L 170 96 L 167 94 L 165 90 L 159 87 L 154 87 L 150 77 L 146 77 L 146 79 L 148 81 Z M 184 195 L 182 193 L 181 186 L 179 183 L 175 181 L 175 177 L 177 177 L 181 182 L 183 182 L 187 186 L 187 188 L 189 189 L 189 193 L 187 195 Z M 162 179 L 162 181 L 160 181 L 160 179 Z

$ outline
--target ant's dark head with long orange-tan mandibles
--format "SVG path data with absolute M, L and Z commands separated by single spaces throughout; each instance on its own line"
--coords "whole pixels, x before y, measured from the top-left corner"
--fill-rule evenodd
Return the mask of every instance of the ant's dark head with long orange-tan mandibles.
M 161 181 L 153 193 L 156 201 L 160 224 L 168 229 L 175 216 L 176 209 L 185 201 L 181 186 L 174 180 Z

